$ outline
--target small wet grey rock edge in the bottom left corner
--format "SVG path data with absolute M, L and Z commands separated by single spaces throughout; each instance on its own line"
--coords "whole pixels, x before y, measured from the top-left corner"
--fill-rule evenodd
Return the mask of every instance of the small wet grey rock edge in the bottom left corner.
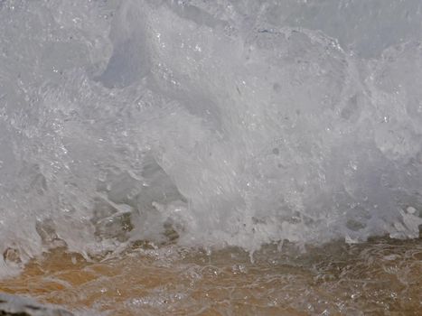
M 0 293 L 0 315 L 5 316 L 72 316 L 70 311 L 42 305 L 29 298 Z

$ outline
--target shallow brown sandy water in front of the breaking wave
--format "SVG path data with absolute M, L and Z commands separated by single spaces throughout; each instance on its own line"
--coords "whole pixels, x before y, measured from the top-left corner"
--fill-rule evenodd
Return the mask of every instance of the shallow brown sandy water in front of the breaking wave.
M 88 262 L 65 249 L 0 291 L 109 315 L 420 315 L 422 239 L 379 238 L 299 251 L 131 249 Z

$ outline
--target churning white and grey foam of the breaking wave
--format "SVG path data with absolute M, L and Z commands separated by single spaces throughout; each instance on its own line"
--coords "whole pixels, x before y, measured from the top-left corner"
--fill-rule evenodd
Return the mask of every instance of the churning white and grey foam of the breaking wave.
M 0 275 L 417 237 L 421 41 L 419 0 L 0 1 Z

